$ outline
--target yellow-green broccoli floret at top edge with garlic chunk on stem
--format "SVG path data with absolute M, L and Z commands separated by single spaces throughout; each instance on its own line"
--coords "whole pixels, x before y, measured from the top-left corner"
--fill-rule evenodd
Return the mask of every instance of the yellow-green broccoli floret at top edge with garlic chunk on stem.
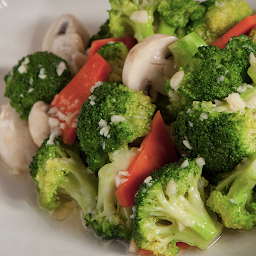
M 161 0 L 110 0 L 110 32 L 114 37 L 134 36 L 138 42 L 154 34 L 154 16 Z

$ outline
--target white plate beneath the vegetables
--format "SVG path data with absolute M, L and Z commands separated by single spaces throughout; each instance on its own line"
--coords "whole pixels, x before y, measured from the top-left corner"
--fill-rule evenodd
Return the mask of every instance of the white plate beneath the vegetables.
M 248 3 L 256 9 L 255 0 Z M 83 21 L 90 33 L 97 32 L 107 19 L 108 0 L 0 0 L 0 105 L 7 102 L 4 75 L 23 56 L 41 50 L 50 24 L 61 14 L 71 13 Z M 54 221 L 37 204 L 30 177 L 0 173 L 0 254 L 3 256 L 114 256 L 127 255 L 126 247 L 114 242 L 103 245 L 85 230 L 79 213 L 65 221 Z M 252 256 L 256 229 L 224 231 L 207 251 L 184 251 L 179 255 Z

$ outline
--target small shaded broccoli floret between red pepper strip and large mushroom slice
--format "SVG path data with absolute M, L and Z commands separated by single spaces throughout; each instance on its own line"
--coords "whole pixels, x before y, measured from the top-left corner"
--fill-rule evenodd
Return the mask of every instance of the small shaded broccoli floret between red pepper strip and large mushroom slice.
M 98 54 L 100 54 L 111 67 L 111 72 L 107 78 L 108 82 L 122 82 L 123 66 L 128 52 L 127 46 L 122 42 L 107 43 L 99 49 Z

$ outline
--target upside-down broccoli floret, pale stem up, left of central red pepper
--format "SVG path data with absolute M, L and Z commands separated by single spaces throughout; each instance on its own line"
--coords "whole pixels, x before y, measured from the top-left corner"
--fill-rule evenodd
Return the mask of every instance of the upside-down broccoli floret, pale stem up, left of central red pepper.
M 122 207 L 116 198 L 116 178 L 119 171 L 126 170 L 131 158 L 137 154 L 137 148 L 127 146 L 109 153 L 111 163 L 104 165 L 98 172 L 99 188 L 95 207 L 91 207 L 85 216 L 102 239 L 119 237 L 130 241 L 132 236 L 131 207 Z M 121 176 L 122 177 L 122 176 Z

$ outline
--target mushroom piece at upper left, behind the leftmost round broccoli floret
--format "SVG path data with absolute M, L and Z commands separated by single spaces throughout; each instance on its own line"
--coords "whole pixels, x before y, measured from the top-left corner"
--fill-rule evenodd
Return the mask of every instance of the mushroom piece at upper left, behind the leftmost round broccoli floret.
M 60 16 L 47 30 L 42 50 L 65 59 L 75 75 L 86 62 L 90 35 L 85 25 L 71 14 Z

